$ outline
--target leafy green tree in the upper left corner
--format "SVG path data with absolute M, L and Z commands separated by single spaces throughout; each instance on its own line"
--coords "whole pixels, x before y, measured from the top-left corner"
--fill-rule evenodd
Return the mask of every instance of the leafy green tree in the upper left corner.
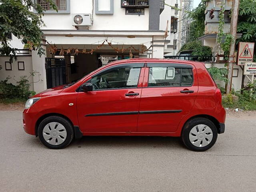
M 58 11 L 52 0 L 46 0 L 50 8 Z M 33 12 L 33 8 L 37 14 Z M 41 47 L 44 26 L 42 16 L 45 10 L 34 0 L 0 0 L 0 55 L 10 55 L 10 62 L 16 59 L 17 48 L 10 45 L 8 34 L 12 33 L 30 50 L 36 50 L 38 55 L 44 54 Z

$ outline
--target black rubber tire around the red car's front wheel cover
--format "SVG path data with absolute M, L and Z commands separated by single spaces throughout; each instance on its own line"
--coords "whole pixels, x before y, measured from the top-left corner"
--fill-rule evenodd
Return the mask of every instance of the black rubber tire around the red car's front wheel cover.
M 60 124 L 62 124 L 64 126 L 64 128 L 66 129 L 66 139 L 64 140 L 63 143 L 59 144 L 59 145 L 52 145 L 50 143 L 48 143 L 43 136 L 43 129 L 44 127 L 51 122 L 58 122 Z M 65 118 L 62 118 L 60 116 L 49 116 L 47 118 L 45 118 L 44 120 L 42 120 L 42 122 L 39 124 L 38 126 L 38 137 L 40 138 L 41 142 L 48 148 L 50 149 L 62 149 L 65 148 L 66 146 L 68 146 L 70 144 L 70 142 L 73 140 L 74 138 L 74 129 L 72 124 L 66 120 Z

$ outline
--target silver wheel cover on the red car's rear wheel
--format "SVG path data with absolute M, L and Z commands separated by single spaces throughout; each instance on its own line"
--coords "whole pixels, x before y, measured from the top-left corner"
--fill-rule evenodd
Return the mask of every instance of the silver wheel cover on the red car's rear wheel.
M 212 130 L 204 124 L 194 126 L 189 132 L 189 140 L 196 147 L 205 147 L 212 141 Z

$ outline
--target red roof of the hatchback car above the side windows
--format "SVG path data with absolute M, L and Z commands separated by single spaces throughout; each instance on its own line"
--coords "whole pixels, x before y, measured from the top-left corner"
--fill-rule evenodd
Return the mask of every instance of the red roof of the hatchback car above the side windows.
M 111 63 L 108 63 L 108 66 L 114 64 L 124 64 L 128 62 L 170 62 L 170 63 L 179 63 L 179 64 L 204 64 L 198 61 L 190 61 L 190 60 L 180 60 L 180 59 L 160 59 L 160 58 L 132 58 L 132 59 L 124 59 L 124 60 L 116 60 Z

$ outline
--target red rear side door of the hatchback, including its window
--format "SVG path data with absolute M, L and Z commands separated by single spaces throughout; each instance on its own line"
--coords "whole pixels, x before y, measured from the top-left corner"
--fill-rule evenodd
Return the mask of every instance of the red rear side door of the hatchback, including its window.
M 198 93 L 192 64 L 148 63 L 140 101 L 138 132 L 175 132 Z

